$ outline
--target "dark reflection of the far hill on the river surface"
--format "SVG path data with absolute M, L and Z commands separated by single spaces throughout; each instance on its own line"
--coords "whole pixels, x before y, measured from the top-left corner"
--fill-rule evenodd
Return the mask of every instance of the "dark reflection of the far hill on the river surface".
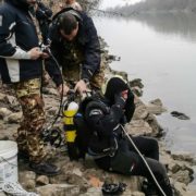
M 150 13 L 133 14 L 130 17 L 96 13 L 96 16 L 113 17 L 115 21 L 137 21 L 159 34 L 179 36 L 187 41 L 196 42 L 196 14 L 193 13 Z

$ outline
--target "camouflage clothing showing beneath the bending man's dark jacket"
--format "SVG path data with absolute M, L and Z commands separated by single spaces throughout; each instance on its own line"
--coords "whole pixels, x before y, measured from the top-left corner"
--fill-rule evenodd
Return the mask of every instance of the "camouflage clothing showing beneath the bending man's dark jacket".
M 73 84 L 81 79 L 81 69 L 84 61 L 83 50 L 76 42 L 64 41 L 65 54 L 63 56 L 63 76 L 68 84 Z M 100 89 L 105 82 L 105 68 L 101 58 L 100 69 L 90 79 L 91 88 Z

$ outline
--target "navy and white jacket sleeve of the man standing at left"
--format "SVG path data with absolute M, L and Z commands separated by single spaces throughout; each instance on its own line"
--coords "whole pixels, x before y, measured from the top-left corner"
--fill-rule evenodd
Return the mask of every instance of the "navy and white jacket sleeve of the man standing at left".
M 4 7 L 0 8 L 0 57 L 30 59 L 30 54 L 16 46 L 14 40 L 15 16 Z

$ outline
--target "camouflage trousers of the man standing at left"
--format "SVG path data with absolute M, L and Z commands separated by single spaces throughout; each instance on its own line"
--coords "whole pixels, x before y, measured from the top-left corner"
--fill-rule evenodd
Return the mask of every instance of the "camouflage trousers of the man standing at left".
M 13 85 L 23 110 L 17 128 L 19 150 L 28 154 L 30 161 L 40 162 L 46 157 L 40 132 L 45 123 L 44 101 L 40 97 L 40 79 L 29 79 Z

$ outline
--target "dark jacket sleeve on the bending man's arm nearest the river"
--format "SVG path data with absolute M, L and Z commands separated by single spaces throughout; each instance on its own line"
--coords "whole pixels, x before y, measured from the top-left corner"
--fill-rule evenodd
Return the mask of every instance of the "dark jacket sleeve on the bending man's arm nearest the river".
M 82 78 L 90 79 L 100 66 L 100 44 L 93 20 L 86 17 L 85 23 L 88 41 L 85 46 L 85 61 L 82 70 Z

